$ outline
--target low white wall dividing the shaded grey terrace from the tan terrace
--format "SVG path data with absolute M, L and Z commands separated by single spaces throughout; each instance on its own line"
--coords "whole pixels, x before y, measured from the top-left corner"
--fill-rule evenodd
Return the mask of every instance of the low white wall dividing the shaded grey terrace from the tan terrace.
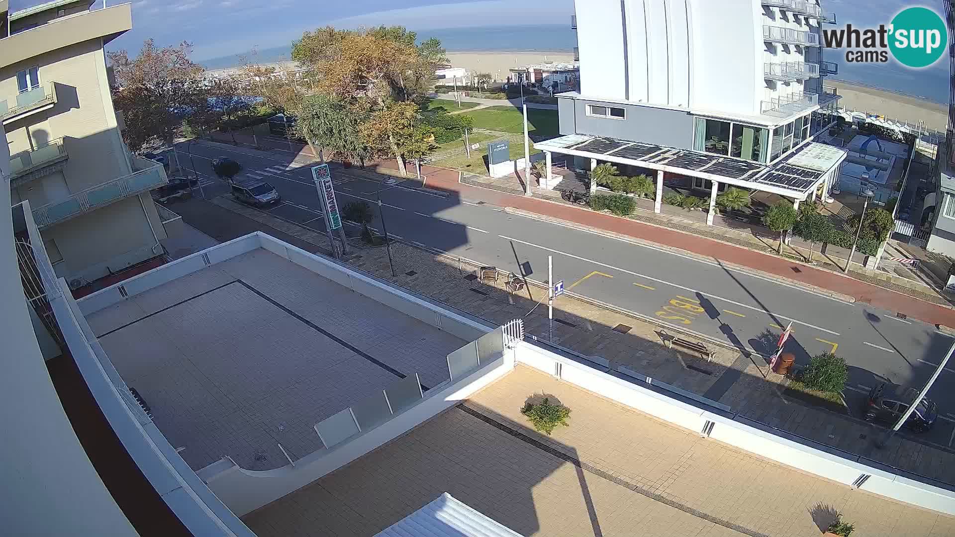
M 446 380 L 425 393 L 413 406 L 366 432 L 315 451 L 294 464 L 274 470 L 246 470 L 224 458 L 202 468 L 199 476 L 232 512 L 243 516 L 311 483 L 336 468 L 369 453 L 382 444 L 471 397 L 514 369 L 514 353 L 505 352 L 456 381 Z

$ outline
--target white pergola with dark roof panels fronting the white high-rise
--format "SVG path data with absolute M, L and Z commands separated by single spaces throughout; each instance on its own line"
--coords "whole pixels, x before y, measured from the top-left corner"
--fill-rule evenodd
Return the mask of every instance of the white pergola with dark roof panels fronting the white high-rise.
M 829 196 L 829 189 L 836 183 L 839 167 L 847 155 L 838 147 L 808 142 L 773 164 L 763 164 L 643 141 L 577 134 L 537 142 L 534 147 L 545 154 L 547 183 L 551 186 L 554 184 L 551 181 L 552 153 L 589 159 L 590 170 L 599 161 L 655 170 L 656 201 L 653 208 L 656 212 L 660 212 L 663 202 L 665 173 L 710 181 L 710 211 L 707 216 L 710 226 L 720 184 L 777 194 L 792 199 L 798 208 L 799 202 L 815 201 L 817 194 L 821 194 L 823 200 Z M 593 192 L 596 185 L 591 183 L 590 188 Z

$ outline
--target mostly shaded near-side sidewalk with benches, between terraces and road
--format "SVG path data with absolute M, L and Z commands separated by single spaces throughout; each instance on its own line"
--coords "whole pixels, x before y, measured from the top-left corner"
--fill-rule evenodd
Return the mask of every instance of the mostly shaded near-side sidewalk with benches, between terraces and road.
M 193 199 L 180 204 L 179 212 L 190 225 L 219 241 L 261 229 L 308 251 L 327 253 L 324 235 L 226 198 L 217 198 L 214 203 Z M 392 253 L 396 277 L 391 275 L 388 254 L 382 247 L 354 252 L 350 264 L 487 319 L 491 325 L 523 318 L 528 334 L 546 340 L 546 308 L 537 308 L 528 314 L 545 295 L 545 290 L 530 288 L 511 294 L 504 289 L 503 280 L 477 281 L 476 266 L 467 260 L 436 255 L 402 243 L 393 243 Z M 784 392 L 785 379 L 770 373 L 765 361 L 758 356 L 751 359 L 735 349 L 715 347 L 716 355 L 708 362 L 696 354 L 677 352 L 661 343 L 664 337 L 675 335 L 668 333 L 668 329 L 571 294 L 561 295 L 554 301 L 553 341 L 584 356 L 598 356 L 593 360 L 595 367 L 601 367 L 600 358 L 605 358 L 604 367 L 624 366 L 638 375 L 651 376 L 655 381 L 697 397 L 728 405 L 736 419 L 752 419 L 769 428 L 792 433 L 807 444 L 818 442 L 832 446 L 848 459 L 864 458 L 863 462 L 869 464 L 886 464 L 944 483 L 955 483 L 955 450 L 901 435 L 887 448 L 875 450 L 872 440 L 881 434 L 881 427 L 788 397 Z M 620 325 L 629 330 L 622 331 Z

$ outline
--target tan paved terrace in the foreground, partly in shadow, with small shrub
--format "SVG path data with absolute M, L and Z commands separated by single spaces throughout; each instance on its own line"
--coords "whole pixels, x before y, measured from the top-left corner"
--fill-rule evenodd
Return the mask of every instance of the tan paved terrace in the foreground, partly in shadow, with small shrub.
M 552 437 L 520 416 L 541 395 L 572 410 Z M 443 492 L 527 536 L 804 537 L 836 512 L 860 536 L 955 534 L 955 518 L 702 439 L 524 366 L 244 522 L 261 537 L 371 537 Z

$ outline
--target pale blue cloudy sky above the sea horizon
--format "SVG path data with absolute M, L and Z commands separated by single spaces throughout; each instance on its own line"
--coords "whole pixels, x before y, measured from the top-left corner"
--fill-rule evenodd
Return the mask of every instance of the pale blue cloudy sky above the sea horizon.
M 42 1 L 11 0 L 10 6 L 11 10 L 19 10 Z M 96 0 L 94 8 L 101 7 L 104 1 L 108 6 L 123 2 Z M 574 12 L 573 0 L 132 1 L 133 30 L 113 41 L 109 50 L 126 49 L 133 55 L 149 37 L 159 45 L 185 40 L 193 44 L 193 59 L 197 61 L 290 45 L 302 32 L 329 24 L 339 28 L 402 25 L 419 32 L 456 27 L 565 25 Z M 896 12 L 915 5 L 942 12 L 941 0 L 823 0 L 822 5 L 826 11 L 837 13 L 839 26 L 850 22 L 865 27 L 888 23 Z

